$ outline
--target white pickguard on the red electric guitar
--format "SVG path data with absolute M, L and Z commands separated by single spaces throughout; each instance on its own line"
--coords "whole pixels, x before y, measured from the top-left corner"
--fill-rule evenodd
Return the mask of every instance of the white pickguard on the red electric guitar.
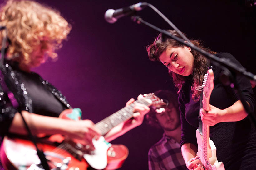
M 94 154 L 84 154 L 84 159 L 94 169 L 104 169 L 107 166 L 107 150 L 111 146 L 103 136 L 99 140 L 92 140 L 95 147 Z

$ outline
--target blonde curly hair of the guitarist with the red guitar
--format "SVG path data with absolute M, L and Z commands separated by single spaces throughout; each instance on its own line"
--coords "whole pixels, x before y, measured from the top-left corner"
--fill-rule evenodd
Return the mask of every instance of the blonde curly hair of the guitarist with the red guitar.
M 71 25 L 46 5 L 29 0 L 8 0 L 0 10 L 0 25 L 8 30 L 9 44 L 7 59 L 15 58 L 20 64 L 28 65 L 30 54 L 47 40 L 47 54 L 56 58 L 55 49 L 61 48 L 62 40 L 67 38 Z M 4 32 L 0 33 L 0 38 Z

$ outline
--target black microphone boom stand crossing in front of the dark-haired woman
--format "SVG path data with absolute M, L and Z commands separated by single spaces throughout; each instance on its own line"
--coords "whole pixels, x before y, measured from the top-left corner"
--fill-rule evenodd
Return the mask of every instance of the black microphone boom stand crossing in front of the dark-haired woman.
M 225 58 L 216 57 L 215 55 L 210 54 L 210 53 L 204 51 L 203 49 L 194 46 L 194 44 L 192 44 L 192 43 L 185 43 L 184 39 L 180 39 L 180 38 L 176 37 L 175 35 L 169 33 L 168 31 L 162 30 L 162 29 L 156 27 L 155 25 L 152 25 L 152 24 L 144 21 L 140 16 L 131 16 L 131 19 L 134 22 L 136 22 L 137 24 L 141 24 L 142 23 L 144 25 L 147 25 L 150 28 L 161 32 L 163 35 L 165 35 L 167 37 L 170 37 L 172 39 L 175 39 L 176 41 L 178 41 L 178 42 L 180 42 L 182 44 L 185 44 L 186 46 L 189 46 L 190 48 L 198 51 L 199 53 L 202 53 L 205 57 L 210 59 L 213 62 L 213 64 L 216 65 L 217 67 L 224 68 L 226 73 L 227 73 L 224 76 L 228 76 L 228 77 L 231 76 L 230 80 L 233 80 L 234 84 L 230 84 L 230 86 L 231 86 L 231 88 L 235 88 L 237 90 L 238 95 L 239 95 L 240 100 L 241 100 L 241 103 L 244 106 L 244 110 L 246 111 L 246 113 L 248 113 L 251 122 L 256 127 L 256 117 L 255 117 L 254 113 L 252 112 L 252 110 L 249 108 L 248 103 L 244 99 L 244 97 L 242 95 L 242 92 L 241 92 L 241 90 L 239 88 L 239 84 L 237 83 L 237 81 L 235 79 L 236 75 L 240 74 L 240 75 L 243 75 L 243 76 L 245 76 L 245 77 L 247 77 L 247 78 L 249 78 L 249 79 L 251 79 L 251 80 L 256 82 L 256 75 L 254 75 L 251 72 L 246 71 L 245 68 L 238 67 L 236 64 L 230 62 L 229 60 L 227 60 Z M 233 74 L 229 70 L 231 70 Z

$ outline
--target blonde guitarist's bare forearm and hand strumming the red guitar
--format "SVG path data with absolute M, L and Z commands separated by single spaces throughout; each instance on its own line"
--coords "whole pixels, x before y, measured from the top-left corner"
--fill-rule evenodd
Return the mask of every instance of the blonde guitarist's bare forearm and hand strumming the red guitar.
M 76 139 L 86 146 L 87 150 L 94 150 L 92 139 L 96 140 L 100 136 L 100 131 L 94 127 L 91 120 L 66 120 L 57 117 L 42 116 L 35 113 L 22 111 L 22 115 L 26 120 L 33 135 L 46 134 L 54 135 L 61 134 L 69 139 Z M 27 130 L 22 121 L 20 113 L 16 113 L 10 126 L 9 132 L 20 135 L 27 135 Z

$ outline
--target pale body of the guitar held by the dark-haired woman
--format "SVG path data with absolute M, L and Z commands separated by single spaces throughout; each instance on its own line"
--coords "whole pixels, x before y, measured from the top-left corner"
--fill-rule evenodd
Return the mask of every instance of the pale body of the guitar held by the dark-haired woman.
M 196 130 L 196 140 L 198 145 L 198 152 L 196 153 L 200 158 L 203 158 L 203 136 L 200 134 L 199 130 Z M 216 156 L 216 147 L 212 140 L 209 140 L 210 148 L 208 152 L 211 152 L 211 157 L 208 159 L 209 166 L 212 170 L 224 170 L 224 164 L 218 162 Z M 210 170 L 210 169 L 209 169 Z

